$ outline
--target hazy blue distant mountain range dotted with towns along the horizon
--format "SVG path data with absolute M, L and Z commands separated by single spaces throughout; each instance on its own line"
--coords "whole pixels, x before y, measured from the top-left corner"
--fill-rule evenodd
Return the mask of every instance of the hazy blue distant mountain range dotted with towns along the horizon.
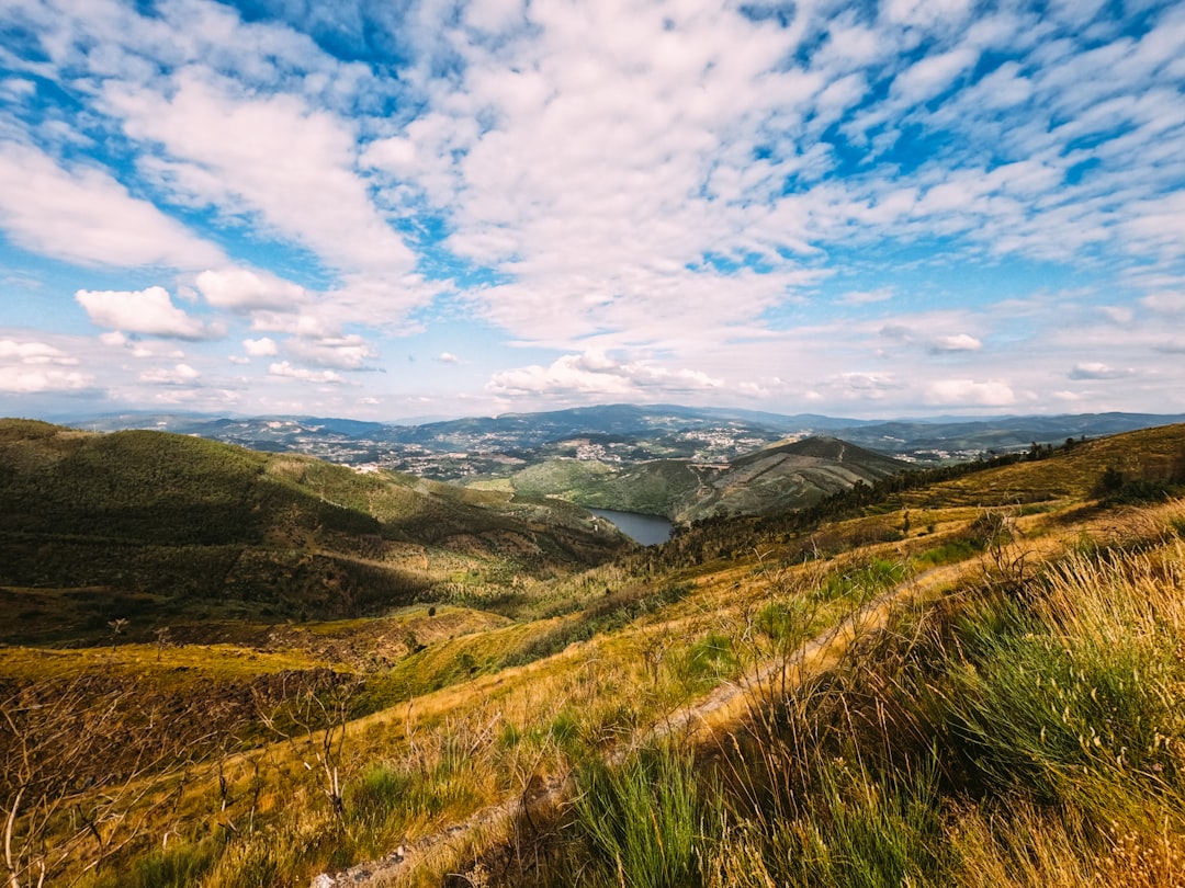
M 1185 414 L 1082 413 L 991 419 L 861 420 L 812 413 L 614 404 L 542 413 L 505 413 L 419 425 L 325 417 L 223 418 L 185 413 L 73 417 L 92 431 L 156 429 L 241 444 L 297 451 L 340 463 L 377 463 L 440 481 L 505 476 L 556 457 L 629 464 L 647 459 L 724 463 L 787 438 L 840 437 L 869 450 L 921 464 L 942 464 L 1032 443 L 1115 435 L 1185 422 Z

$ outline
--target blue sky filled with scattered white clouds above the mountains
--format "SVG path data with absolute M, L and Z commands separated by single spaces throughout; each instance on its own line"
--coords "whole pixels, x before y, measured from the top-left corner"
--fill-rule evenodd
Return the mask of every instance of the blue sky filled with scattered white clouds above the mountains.
M 1185 412 L 1185 4 L 0 0 L 0 414 Z

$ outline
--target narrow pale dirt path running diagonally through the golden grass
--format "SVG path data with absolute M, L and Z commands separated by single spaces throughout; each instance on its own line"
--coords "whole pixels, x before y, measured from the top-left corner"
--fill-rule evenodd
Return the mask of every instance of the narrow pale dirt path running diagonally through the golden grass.
M 761 699 L 767 691 L 788 688 L 793 681 L 801 681 L 807 675 L 832 665 L 852 641 L 886 626 L 895 607 L 966 575 L 968 567 L 967 562 L 935 567 L 897 584 L 858 607 L 837 625 L 816 635 L 788 658 L 777 657 L 763 663 L 739 680 L 718 686 L 697 703 L 666 716 L 632 746 L 653 742 L 680 732 L 688 734 L 691 739 L 700 731 L 718 729 L 736 723 L 743 718 L 752 700 Z M 789 676 L 793 676 L 793 680 Z M 619 751 L 614 758 L 622 758 L 627 751 Z M 406 847 L 401 845 L 377 861 L 359 863 L 333 875 L 322 873 L 313 880 L 312 888 L 345 886 L 380 888 L 395 884 L 396 880 L 409 873 L 416 863 L 449 847 L 461 849 L 473 845 L 482 835 L 489 837 L 508 835 L 510 824 L 521 816 L 525 805 L 530 804 L 532 807 L 556 805 L 569 798 L 572 790 L 570 778 L 553 778 L 550 783 L 536 787 L 530 799 L 525 796 L 512 797 L 501 804 L 475 812 L 462 823 L 418 838 Z

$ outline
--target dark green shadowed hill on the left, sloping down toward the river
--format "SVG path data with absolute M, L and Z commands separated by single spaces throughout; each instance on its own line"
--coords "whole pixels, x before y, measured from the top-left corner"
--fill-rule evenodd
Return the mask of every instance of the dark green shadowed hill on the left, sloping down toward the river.
M 0 542 L 9 587 L 245 601 L 306 618 L 431 599 L 459 578 L 513 587 L 630 546 L 563 502 L 25 420 L 0 422 Z

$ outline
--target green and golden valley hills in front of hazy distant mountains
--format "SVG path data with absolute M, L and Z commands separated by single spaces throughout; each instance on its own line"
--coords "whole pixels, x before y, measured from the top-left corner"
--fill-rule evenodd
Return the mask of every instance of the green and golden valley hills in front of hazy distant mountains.
M 457 487 L 4 420 L 9 883 L 1185 875 L 1185 426 L 745 446 Z

